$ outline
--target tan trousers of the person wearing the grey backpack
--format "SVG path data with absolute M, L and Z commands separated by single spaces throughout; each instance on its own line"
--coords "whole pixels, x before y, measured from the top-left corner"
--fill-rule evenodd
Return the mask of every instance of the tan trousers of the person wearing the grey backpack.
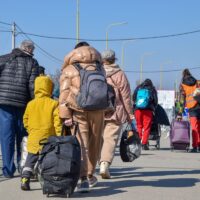
M 79 123 L 80 129 L 78 134 L 82 152 L 80 177 L 92 175 L 100 155 L 104 111 L 74 111 L 73 119 Z

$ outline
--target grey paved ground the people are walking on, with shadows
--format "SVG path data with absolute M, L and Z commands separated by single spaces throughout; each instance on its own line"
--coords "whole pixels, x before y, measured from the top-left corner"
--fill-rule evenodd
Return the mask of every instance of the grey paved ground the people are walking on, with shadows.
M 197 200 L 200 197 L 200 153 L 171 152 L 168 138 L 165 139 L 164 136 L 161 138 L 160 150 L 152 147 L 149 151 L 143 151 L 141 157 L 132 163 L 123 163 L 117 151 L 111 168 L 112 179 L 102 180 L 97 175 L 99 179 L 97 187 L 93 188 L 90 193 L 75 192 L 71 198 Z M 38 182 L 32 182 L 31 189 L 30 192 L 21 191 L 18 176 L 13 179 L 0 176 L 2 200 L 48 199 L 42 194 Z M 49 199 L 59 198 L 50 197 Z

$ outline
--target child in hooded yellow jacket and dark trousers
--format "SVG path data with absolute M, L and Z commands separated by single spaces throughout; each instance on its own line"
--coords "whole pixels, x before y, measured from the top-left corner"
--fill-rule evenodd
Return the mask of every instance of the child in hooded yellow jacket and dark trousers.
M 51 98 L 53 82 L 48 76 L 35 79 L 35 98 L 26 107 L 23 122 L 28 132 L 28 156 L 22 170 L 21 189 L 30 190 L 30 177 L 39 158 L 40 140 L 61 134 L 58 102 Z

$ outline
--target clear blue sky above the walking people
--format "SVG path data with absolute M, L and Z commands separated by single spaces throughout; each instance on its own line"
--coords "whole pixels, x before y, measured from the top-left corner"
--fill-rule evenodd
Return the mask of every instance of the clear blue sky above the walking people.
M 109 39 L 141 38 L 171 35 L 200 29 L 199 0 L 79 0 L 80 38 L 105 39 L 106 29 L 115 22 L 126 25 L 112 26 L 108 30 Z M 0 0 L 0 21 L 15 22 L 24 32 L 39 35 L 76 38 L 76 0 Z M 0 30 L 10 30 L 10 26 L 0 23 Z M 49 58 L 38 48 L 35 58 L 46 67 L 47 73 L 55 73 L 62 66 L 64 56 L 73 49 L 75 40 L 56 40 L 30 36 L 42 49 L 61 61 Z M 16 37 L 16 45 L 26 39 L 23 34 Z M 106 42 L 89 42 L 97 50 L 105 50 Z M 159 87 L 173 89 L 180 81 L 184 67 L 200 67 L 200 32 L 179 37 L 143 39 L 134 42 L 108 42 L 109 48 L 116 51 L 121 64 L 124 46 L 124 70 L 132 89 L 140 79 L 140 66 L 143 60 L 142 78 L 151 78 Z M 0 32 L 0 54 L 11 51 L 11 33 Z M 191 70 L 200 79 L 200 68 Z

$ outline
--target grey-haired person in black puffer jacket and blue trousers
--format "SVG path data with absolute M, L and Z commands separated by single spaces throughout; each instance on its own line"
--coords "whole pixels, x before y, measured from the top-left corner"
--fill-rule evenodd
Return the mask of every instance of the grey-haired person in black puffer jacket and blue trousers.
M 34 97 L 34 80 L 38 76 L 38 62 L 33 58 L 34 44 L 25 40 L 20 48 L 0 56 L 0 140 L 3 175 L 12 178 L 15 138 L 17 163 L 21 159 L 20 144 L 25 135 L 23 114 L 26 104 Z

